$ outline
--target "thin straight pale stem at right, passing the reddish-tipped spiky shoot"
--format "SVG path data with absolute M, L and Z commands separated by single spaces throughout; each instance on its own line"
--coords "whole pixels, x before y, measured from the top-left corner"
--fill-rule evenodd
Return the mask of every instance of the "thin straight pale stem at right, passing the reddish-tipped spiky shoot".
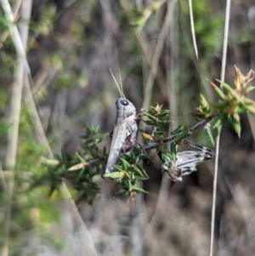
M 226 69 L 226 62 L 227 62 L 227 49 L 228 49 L 228 39 L 229 39 L 230 7 L 231 7 L 231 0 L 227 0 L 225 25 L 224 25 L 223 56 L 222 56 L 221 76 L 220 76 L 221 82 L 224 82 L 224 79 L 225 79 L 225 69 Z M 220 88 L 223 90 L 222 83 L 220 84 Z M 215 210 L 216 210 L 217 179 L 218 179 L 218 149 L 219 149 L 219 134 L 216 139 L 215 166 L 214 166 L 214 178 L 213 178 L 210 256 L 213 255 L 213 247 L 214 247 Z

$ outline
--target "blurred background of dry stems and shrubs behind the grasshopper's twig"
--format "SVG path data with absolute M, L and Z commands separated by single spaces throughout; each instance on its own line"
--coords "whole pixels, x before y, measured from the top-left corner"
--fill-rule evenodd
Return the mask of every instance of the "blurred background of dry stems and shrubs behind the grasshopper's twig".
M 31 189 L 31 184 L 47 171 L 40 157 L 75 154 L 86 123 L 101 133 L 112 131 L 119 92 L 109 68 L 117 79 L 121 69 L 124 94 L 138 111 L 158 102 L 171 110 L 169 130 L 195 124 L 190 111 L 199 106 L 200 94 L 210 102 L 217 99 L 207 79 L 220 78 L 225 2 L 192 2 L 199 59 L 188 1 L 0 3 L 0 254 L 207 255 L 213 161 L 201 163 L 183 182 L 170 183 L 161 180 L 155 156 L 144 167 L 149 194 L 132 203 L 116 195 L 115 183 L 102 179 L 100 196 L 92 204 L 78 202 L 77 208 L 65 199 L 66 187 L 49 197 L 50 185 Z M 13 26 L 6 3 L 32 82 L 16 54 L 19 42 L 8 29 Z M 232 1 L 225 82 L 234 83 L 234 65 L 244 74 L 255 68 L 254 30 L 254 1 Z M 228 123 L 220 139 L 218 255 L 255 252 L 255 118 L 243 115 L 241 124 L 240 139 Z M 189 139 L 212 148 L 202 129 Z M 109 136 L 104 145 L 110 148 Z

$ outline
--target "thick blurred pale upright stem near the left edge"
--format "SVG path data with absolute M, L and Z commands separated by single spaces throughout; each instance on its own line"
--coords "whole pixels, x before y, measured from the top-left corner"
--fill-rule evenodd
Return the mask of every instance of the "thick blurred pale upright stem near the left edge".
M 21 109 L 21 99 L 22 99 L 22 90 L 23 90 L 23 81 L 24 81 L 24 68 L 22 58 L 26 58 L 26 42 L 28 37 L 28 20 L 30 19 L 31 14 L 31 0 L 24 0 L 21 7 L 21 21 L 20 21 L 20 34 L 17 29 L 17 26 L 14 26 L 14 15 L 8 1 L 1 1 L 3 11 L 6 19 L 8 20 L 9 31 L 12 37 L 15 37 L 16 34 L 19 35 L 20 43 L 24 47 L 21 47 L 21 54 L 18 54 L 17 64 L 15 68 L 14 83 L 12 89 L 12 96 L 10 102 L 10 114 L 9 114 L 9 123 L 10 128 L 8 132 L 8 143 L 6 150 L 6 159 L 5 165 L 9 170 L 14 170 L 16 165 L 16 155 L 18 148 L 19 140 L 19 125 L 20 125 L 20 109 Z M 20 37 L 21 36 L 21 37 Z M 2 248 L 2 255 L 8 256 L 8 236 L 10 228 L 10 219 L 11 219 L 11 202 L 14 190 L 14 175 L 11 175 L 8 178 L 7 182 L 7 204 L 6 204 L 6 213 L 5 213 L 5 222 L 4 222 L 4 241 Z

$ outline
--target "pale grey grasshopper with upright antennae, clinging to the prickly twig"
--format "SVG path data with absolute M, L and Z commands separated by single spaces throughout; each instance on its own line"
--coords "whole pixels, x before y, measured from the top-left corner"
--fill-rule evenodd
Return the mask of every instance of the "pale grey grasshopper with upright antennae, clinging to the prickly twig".
M 111 69 L 110 69 L 111 71 Z M 111 72 L 111 76 L 116 82 L 115 77 Z M 131 151 L 136 142 L 136 134 L 138 130 L 136 118 L 136 109 L 133 103 L 126 99 L 122 89 L 122 78 L 120 73 L 121 87 L 116 82 L 121 98 L 116 100 L 116 120 L 112 134 L 111 149 L 108 156 L 108 161 L 104 174 L 115 172 L 113 165 L 116 164 L 118 156 L 122 153 Z M 103 175 L 104 175 L 103 174 Z

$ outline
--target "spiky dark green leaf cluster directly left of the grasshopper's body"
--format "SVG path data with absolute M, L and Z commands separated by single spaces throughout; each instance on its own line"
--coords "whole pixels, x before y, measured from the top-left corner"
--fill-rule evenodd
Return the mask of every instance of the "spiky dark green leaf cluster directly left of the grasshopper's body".
M 99 150 L 99 144 L 106 134 L 98 134 L 98 129 L 87 125 L 86 134 L 82 135 L 82 148 L 75 155 L 62 153 L 55 160 L 41 158 L 47 171 L 32 186 L 48 185 L 49 195 L 52 196 L 58 193 L 63 179 L 67 179 L 74 189 L 77 202 L 93 203 L 99 195 L 98 182 L 107 156 L 105 148 Z

